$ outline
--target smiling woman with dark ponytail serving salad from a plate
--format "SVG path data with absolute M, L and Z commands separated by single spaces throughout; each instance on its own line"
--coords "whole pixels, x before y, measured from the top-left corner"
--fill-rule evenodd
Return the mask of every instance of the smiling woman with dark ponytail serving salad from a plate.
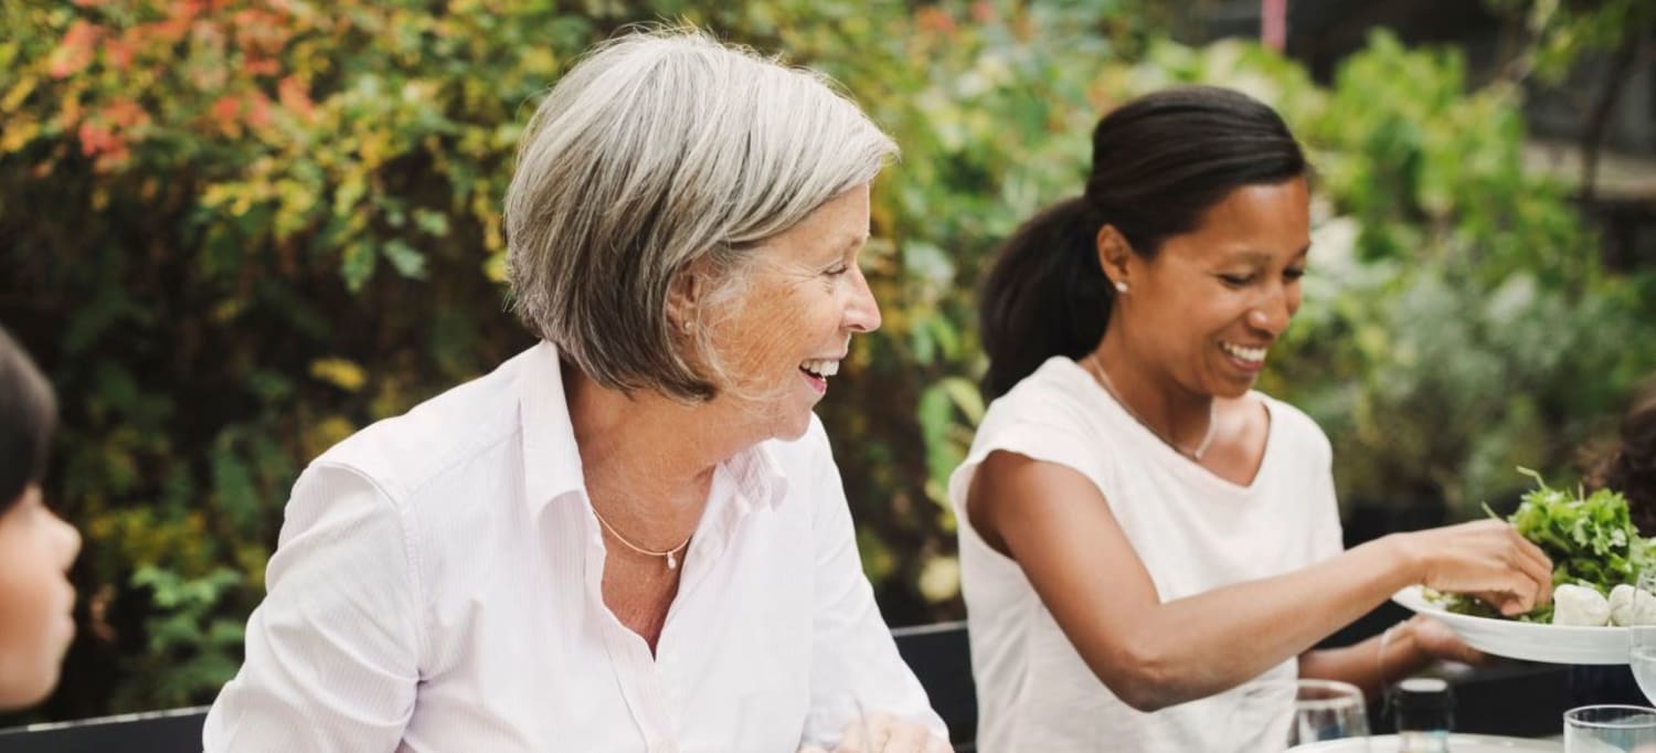
M 949 483 L 979 750 L 1257 751 L 1259 683 L 1374 692 L 1477 654 L 1414 619 L 1312 647 L 1411 584 L 1504 612 L 1552 563 L 1500 521 L 1341 551 L 1328 439 L 1252 389 L 1300 306 L 1308 167 L 1267 106 L 1181 88 L 1093 131 L 1080 197 L 1005 242 L 982 293 L 995 397 Z

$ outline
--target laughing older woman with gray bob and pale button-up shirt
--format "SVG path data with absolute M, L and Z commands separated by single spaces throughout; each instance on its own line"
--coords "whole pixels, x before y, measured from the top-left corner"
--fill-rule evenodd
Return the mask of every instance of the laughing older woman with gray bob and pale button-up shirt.
M 507 194 L 542 343 L 305 470 L 205 748 L 947 750 L 811 414 L 894 152 L 696 31 L 590 53 Z

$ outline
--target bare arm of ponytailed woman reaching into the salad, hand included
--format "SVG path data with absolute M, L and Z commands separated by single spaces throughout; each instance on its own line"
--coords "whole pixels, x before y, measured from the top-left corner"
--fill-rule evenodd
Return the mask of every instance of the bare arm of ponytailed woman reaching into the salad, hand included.
M 1540 549 L 1504 523 L 1479 521 L 1386 536 L 1312 568 L 1161 602 L 1098 487 L 1009 452 L 979 467 L 967 515 L 1018 561 L 1093 674 L 1139 710 L 1240 685 L 1404 586 L 1480 592 L 1515 614 L 1552 583 Z

